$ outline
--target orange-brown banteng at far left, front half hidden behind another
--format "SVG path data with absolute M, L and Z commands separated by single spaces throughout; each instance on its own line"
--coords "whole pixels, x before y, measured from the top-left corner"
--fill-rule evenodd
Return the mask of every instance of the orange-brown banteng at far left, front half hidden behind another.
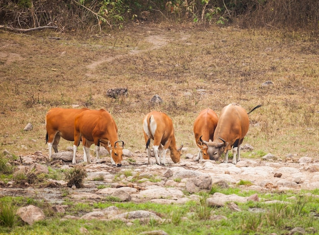
M 49 160 L 51 161 L 52 147 L 58 153 L 60 137 L 74 141 L 74 120 L 79 113 L 89 110 L 87 108 L 51 108 L 45 115 L 46 143 L 49 148 Z M 83 139 L 85 142 L 85 140 Z

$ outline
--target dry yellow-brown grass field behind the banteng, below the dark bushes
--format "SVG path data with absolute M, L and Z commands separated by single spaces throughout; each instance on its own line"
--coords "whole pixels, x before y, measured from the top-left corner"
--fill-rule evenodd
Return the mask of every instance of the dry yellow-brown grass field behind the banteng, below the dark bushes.
M 219 114 L 235 102 L 247 111 L 262 104 L 249 114 L 244 140 L 252 157 L 319 159 L 318 42 L 298 32 L 167 24 L 89 38 L 0 31 L 0 148 L 47 156 L 45 113 L 79 105 L 107 109 L 132 152 L 145 150 L 143 116 L 164 111 L 177 144 L 197 154 L 197 114 L 207 107 Z M 273 85 L 262 86 L 266 81 Z M 107 97 L 116 87 L 127 87 L 128 96 Z M 155 94 L 162 105 L 150 103 Z M 28 123 L 33 130 L 23 131 Z M 66 146 L 72 143 L 61 140 L 60 150 Z

